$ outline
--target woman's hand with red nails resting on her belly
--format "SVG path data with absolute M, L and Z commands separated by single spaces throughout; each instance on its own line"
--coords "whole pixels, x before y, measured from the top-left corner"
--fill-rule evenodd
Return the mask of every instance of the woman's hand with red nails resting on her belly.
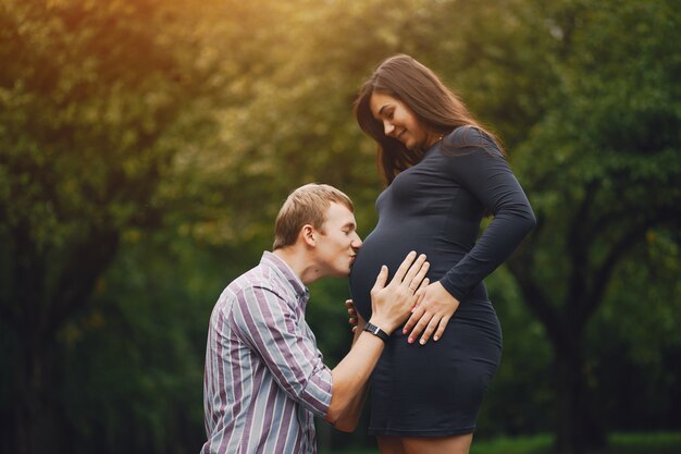
M 451 296 L 439 282 L 433 282 L 425 287 L 423 297 L 405 324 L 403 333 L 409 333 L 407 342 L 413 343 L 419 334 L 423 333 L 419 341 L 423 345 L 431 339 L 433 332 L 435 333 L 433 340 L 439 340 L 449 319 L 458 308 L 459 300 Z

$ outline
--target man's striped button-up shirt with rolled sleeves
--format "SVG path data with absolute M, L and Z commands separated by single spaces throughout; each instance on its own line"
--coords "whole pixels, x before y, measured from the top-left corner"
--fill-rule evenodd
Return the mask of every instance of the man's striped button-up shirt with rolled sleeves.
M 331 404 L 331 370 L 305 321 L 309 292 L 281 258 L 232 282 L 210 318 L 201 453 L 317 453 L 314 415 Z

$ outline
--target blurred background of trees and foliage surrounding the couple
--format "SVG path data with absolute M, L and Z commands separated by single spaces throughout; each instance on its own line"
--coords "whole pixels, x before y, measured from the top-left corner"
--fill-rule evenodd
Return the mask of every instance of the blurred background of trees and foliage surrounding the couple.
M 376 221 L 351 103 L 397 52 L 500 135 L 538 220 L 486 280 L 472 453 L 681 452 L 678 1 L 0 0 L 2 453 L 199 451 L 211 309 L 289 191 Z M 334 366 L 347 283 L 311 292 Z M 320 452 L 377 452 L 366 426 L 320 421 Z

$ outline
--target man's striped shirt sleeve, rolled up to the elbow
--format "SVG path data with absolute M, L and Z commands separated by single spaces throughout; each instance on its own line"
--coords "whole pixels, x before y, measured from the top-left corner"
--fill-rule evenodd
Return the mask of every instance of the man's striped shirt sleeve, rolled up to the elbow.
M 332 395 L 331 370 L 286 300 L 270 289 L 246 287 L 233 306 L 233 320 L 239 338 L 262 357 L 280 388 L 325 417 Z

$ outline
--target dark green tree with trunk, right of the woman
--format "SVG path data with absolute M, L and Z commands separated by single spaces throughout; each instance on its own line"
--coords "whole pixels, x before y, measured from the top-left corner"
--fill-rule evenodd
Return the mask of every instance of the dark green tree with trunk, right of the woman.
M 554 347 L 558 447 L 581 452 L 606 441 L 589 321 L 632 250 L 680 226 L 681 16 L 668 1 L 555 8 L 559 83 L 515 160 L 538 224 L 510 270 Z

